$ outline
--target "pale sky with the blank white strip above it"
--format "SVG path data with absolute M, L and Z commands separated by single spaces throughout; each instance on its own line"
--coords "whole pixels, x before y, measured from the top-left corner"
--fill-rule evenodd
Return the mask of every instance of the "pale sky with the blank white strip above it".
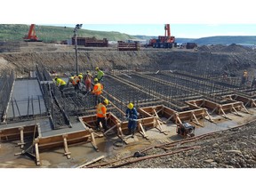
M 252 3 L 252 0 L 44 0 L 31 4 L 28 0 L 8 0 L 1 3 L 0 20 L 71 28 L 82 23 L 85 29 L 146 36 L 164 36 L 164 24 L 168 23 L 172 36 L 176 37 L 256 36 Z M 12 12 L 8 7 L 12 7 Z

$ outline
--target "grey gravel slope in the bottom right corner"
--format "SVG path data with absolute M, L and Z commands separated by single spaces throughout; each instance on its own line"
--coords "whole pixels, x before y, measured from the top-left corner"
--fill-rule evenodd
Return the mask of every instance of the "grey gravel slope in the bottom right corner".
M 172 148 L 152 148 L 146 156 L 170 153 L 179 149 L 196 147 L 170 156 L 146 159 L 127 164 L 124 168 L 255 168 L 256 122 L 224 132 L 215 133 Z M 146 157 L 144 156 L 144 157 Z M 141 157 L 140 157 L 141 158 Z

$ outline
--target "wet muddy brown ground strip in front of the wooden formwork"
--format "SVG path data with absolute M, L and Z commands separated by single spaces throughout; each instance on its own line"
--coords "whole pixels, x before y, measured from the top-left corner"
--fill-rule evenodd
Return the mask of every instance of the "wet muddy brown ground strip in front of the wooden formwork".
M 252 113 L 253 112 L 255 112 L 254 109 L 252 109 Z M 203 127 L 193 123 L 191 124 L 196 125 L 195 134 L 197 136 L 207 132 L 227 130 L 228 128 L 249 122 L 256 117 L 255 115 L 249 114 L 243 114 L 243 116 L 244 117 L 228 114 L 228 117 L 232 120 L 227 120 L 222 116 L 213 116 L 212 119 L 217 124 L 202 119 L 199 123 L 202 124 Z M 0 167 L 75 168 L 81 164 L 90 162 L 99 156 L 105 156 L 103 161 L 108 162 L 124 156 L 131 156 L 134 152 L 143 148 L 148 148 L 149 146 L 174 140 L 182 140 L 176 133 L 176 125 L 172 122 L 162 124 L 162 129 L 167 135 L 161 133 L 156 128 L 146 129 L 149 140 L 143 138 L 139 132 L 135 134 L 134 139 L 132 139 L 131 136 L 125 136 L 126 140 L 128 140 L 128 145 L 125 145 L 124 142 L 115 135 L 96 138 L 96 144 L 99 148 L 98 152 L 92 147 L 91 143 L 80 143 L 68 146 L 68 150 L 71 152 L 70 159 L 68 159 L 67 156 L 64 156 L 64 148 L 40 151 L 40 166 L 36 166 L 35 162 L 28 158 L 28 156 L 14 156 L 14 154 L 21 151 L 20 147 L 17 146 L 19 141 L 8 143 L 2 142 L 0 148 Z

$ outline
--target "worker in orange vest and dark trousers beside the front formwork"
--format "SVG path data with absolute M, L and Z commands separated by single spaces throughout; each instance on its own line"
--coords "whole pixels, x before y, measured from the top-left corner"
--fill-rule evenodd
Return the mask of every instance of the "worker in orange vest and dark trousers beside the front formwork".
M 105 99 L 103 102 L 100 102 L 97 106 L 97 122 L 96 122 L 96 130 L 100 131 L 100 122 L 102 124 L 104 132 L 107 131 L 107 108 L 108 100 Z

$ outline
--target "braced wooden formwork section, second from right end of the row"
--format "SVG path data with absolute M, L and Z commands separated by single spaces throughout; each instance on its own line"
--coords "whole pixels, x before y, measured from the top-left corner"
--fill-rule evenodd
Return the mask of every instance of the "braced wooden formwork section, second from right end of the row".
M 249 113 L 248 110 L 244 107 L 244 104 L 242 101 L 235 101 L 235 100 L 228 100 L 231 102 L 228 103 L 215 103 L 211 100 L 189 100 L 187 103 L 189 103 L 189 106 L 195 106 L 199 108 L 207 108 L 211 109 L 211 114 L 215 113 L 219 116 L 224 116 L 225 118 L 228 118 L 226 115 L 227 113 L 234 113 L 236 116 L 242 116 L 238 113 L 238 111 L 242 111 L 244 109 L 245 113 Z M 230 118 L 228 118 L 230 119 Z

